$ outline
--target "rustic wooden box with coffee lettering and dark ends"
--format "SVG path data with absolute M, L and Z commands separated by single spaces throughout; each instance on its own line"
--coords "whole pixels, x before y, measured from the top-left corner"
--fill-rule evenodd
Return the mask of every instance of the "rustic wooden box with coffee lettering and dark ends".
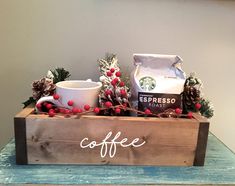
M 209 122 L 196 114 L 48 117 L 28 107 L 14 127 L 17 164 L 203 166 Z

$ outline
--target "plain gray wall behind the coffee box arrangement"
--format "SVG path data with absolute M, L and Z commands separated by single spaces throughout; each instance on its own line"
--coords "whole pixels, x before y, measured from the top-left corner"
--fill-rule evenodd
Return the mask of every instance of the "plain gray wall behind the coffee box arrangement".
M 0 0 L 0 146 L 30 85 L 62 66 L 72 79 L 98 78 L 97 58 L 178 54 L 216 108 L 211 131 L 235 151 L 235 1 Z

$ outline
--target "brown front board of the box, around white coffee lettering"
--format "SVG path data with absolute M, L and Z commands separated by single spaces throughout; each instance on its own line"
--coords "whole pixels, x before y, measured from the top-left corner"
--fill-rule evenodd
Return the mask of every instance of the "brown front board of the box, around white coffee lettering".
M 105 118 L 81 117 L 80 119 L 36 118 L 26 119 L 26 138 L 28 162 L 30 164 L 121 164 L 121 165 L 170 165 L 191 166 L 194 162 L 199 123 L 153 121 L 123 121 Z M 101 157 L 101 147 L 81 148 L 95 141 L 101 144 L 109 132 L 109 142 L 120 142 L 127 138 L 125 144 L 139 138 L 140 147 L 120 144 L 103 145 L 107 151 Z M 94 142 L 93 142 L 94 143 Z M 112 148 L 111 148 L 112 146 Z M 116 147 L 116 148 L 114 148 Z M 110 150 L 111 149 L 111 150 Z M 115 156 L 110 157 L 114 149 Z

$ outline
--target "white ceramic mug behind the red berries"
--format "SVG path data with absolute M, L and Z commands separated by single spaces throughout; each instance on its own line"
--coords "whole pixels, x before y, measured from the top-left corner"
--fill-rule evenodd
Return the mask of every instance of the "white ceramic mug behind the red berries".
M 42 97 L 37 104 L 43 102 L 51 102 L 58 107 L 65 108 L 82 108 L 84 105 L 90 107 L 97 106 L 98 95 L 101 90 L 102 83 L 88 80 L 68 80 L 56 83 L 56 94 L 60 96 L 55 100 L 53 96 Z M 73 106 L 68 106 L 68 101 L 73 101 Z

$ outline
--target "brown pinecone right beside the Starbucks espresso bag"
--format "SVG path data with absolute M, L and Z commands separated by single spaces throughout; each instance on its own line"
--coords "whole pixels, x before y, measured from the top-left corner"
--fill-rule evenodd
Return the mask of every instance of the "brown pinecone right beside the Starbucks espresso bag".
M 194 110 L 195 104 L 200 101 L 200 90 L 195 86 L 186 85 L 184 87 L 183 99 L 187 109 Z

